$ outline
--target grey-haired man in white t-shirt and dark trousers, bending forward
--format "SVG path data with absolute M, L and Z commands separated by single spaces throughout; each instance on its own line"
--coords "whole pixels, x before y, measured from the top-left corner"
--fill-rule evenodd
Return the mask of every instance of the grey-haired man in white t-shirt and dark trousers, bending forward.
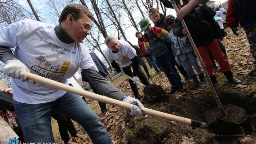
M 129 79 L 129 83 L 135 98 L 140 100 L 140 93 L 138 92 L 136 85 L 136 81 L 139 81 L 137 76 L 140 78 L 142 84 L 148 85 L 149 82 L 140 68 L 139 59 L 136 56 L 135 49 L 126 41 L 117 41 L 115 36 L 107 36 L 104 42 L 108 46 L 108 49 L 105 52 L 108 61 L 120 75 L 124 72 L 126 75 L 133 78 L 133 81 Z M 119 64 L 123 71 L 121 71 L 117 64 Z

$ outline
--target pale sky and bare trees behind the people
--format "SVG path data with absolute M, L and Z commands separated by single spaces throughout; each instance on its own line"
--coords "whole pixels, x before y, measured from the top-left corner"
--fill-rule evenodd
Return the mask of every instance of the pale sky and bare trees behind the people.
M 160 0 L 1 0 L 0 28 L 25 18 L 58 25 L 62 9 L 71 3 L 83 4 L 93 13 L 91 35 L 87 36 L 83 43 L 91 52 L 96 52 L 98 56 L 101 54 L 102 61 L 110 69 L 111 64 L 104 55 L 104 39 L 107 36 L 114 35 L 118 40 L 131 41 L 135 37 L 135 31 L 140 30 L 139 21 L 149 20 L 148 10 L 152 7 L 164 15 L 176 14 L 174 10 L 165 8 Z M 14 49 L 12 48 L 12 51 Z M 0 78 L 5 79 L 10 87 L 11 78 L 4 75 L 3 68 L 4 63 L 1 62 Z M 80 72 L 77 75 L 81 75 Z

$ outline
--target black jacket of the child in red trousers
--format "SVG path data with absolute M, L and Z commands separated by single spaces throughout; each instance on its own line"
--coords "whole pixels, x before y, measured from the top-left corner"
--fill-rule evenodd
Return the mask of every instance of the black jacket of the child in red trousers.
M 220 36 L 225 36 L 211 13 L 203 5 L 196 6 L 192 12 L 184 17 L 184 21 L 196 47 L 208 44 Z M 175 36 L 183 36 L 180 34 L 182 28 L 181 22 L 176 19 L 176 28 L 173 34 Z

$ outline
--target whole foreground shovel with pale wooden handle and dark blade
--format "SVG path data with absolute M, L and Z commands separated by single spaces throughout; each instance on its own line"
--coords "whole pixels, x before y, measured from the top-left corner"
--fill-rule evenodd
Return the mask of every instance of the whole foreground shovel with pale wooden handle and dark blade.
M 127 102 L 111 99 L 111 98 L 101 96 L 101 95 L 98 95 L 98 94 L 95 94 L 95 93 L 92 93 L 92 92 L 87 92 L 87 91 L 81 90 L 79 88 L 75 88 L 75 87 L 69 86 L 67 84 L 62 84 L 62 83 L 56 82 L 54 80 L 50 80 L 48 78 L 38 76 L 38 75 L 29 73 L 29 72 L 27 72 L 27 78 L 34 81 L 34 83 L 39 82 L 41 84 L 45 84 L 47 86 L 50 86 L 50 87 L 53 87 L 53 88 L 56 88 L 56 89 L 71 92 L 71 93 L 74 93 L 74 94 L 77 94 L 77 95 L 80 95 L 80 96 L 83 96 L 83 97 L 86 97 L 86 98 L 90 98 L 90 99 L 93 99 L 93 100 L 108 103 L 108 104 L 111 104 L 111 105 L 114 105 L 114 106 L 117 106 L 117 107 L 120 107 L 120 108 L 131 109 L 134 106 L 133 104 L 130 104 L 130 103 L 127 103 Z M 193 129 L 196 129 L 196 128 L 209 129 L 209 130 L 212 130 L 213 132 L 215 132 L 217 134 L 222 134 L 222 135 L 232 134 L 232 133 L 240 133 L 241 132 L 240 126 L 238 124 L 228 122 L 228 121 L 224 121 L 224 120 L 220 120 L 220 119 L 214 119 L 212 122 L 207 124 L 207 123 L 204 123 L 204 122 L 200 122 L 200 121 L 191 120 L 191 119 L 185 118 L 185 117 L 180 117 L 180 116 L 175 116 L 175 115 L 163 113 L 163 112 L 156 111 L 156 110 L 149 109 L 149 108 L 145 108 L 145 111 L 143 111 L 143 113 L 147 114 L 147 115 L 150 115 L 150 116 L 155 116 L 155 117 L 158 117 L 158 118 L 163 118 L 163 119 L 166 119 L 166 120 L 175 121 L 177 123 L 187 124 L 187 125 L 190 125 Z

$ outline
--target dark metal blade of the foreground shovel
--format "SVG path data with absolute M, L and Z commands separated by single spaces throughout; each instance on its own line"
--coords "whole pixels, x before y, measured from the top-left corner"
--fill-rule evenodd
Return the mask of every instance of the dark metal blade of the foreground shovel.
M 215 118 L 210 123 L 204 123 L 196 120 L 191 120 L 192 123 L 190 126 L 192 126 L 193 129 L 196 128 L 204 128 L 207 130 L 211 130 L 214 133 L 218 135 L 228 135 L 228 134 L 240 134 L 241 128 L 238 124 L 225 121 L 222 119 Z

